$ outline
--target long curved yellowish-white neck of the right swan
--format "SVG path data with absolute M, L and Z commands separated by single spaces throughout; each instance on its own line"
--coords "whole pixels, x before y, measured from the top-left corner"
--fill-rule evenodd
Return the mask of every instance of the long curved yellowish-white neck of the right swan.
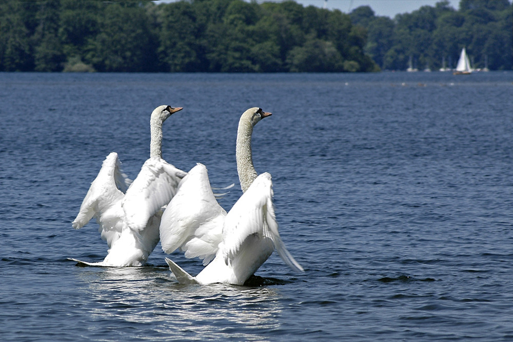
M 253 156 L 251 154 L 252 132 L 253 123 L 241 118 L 239 129 L 237 131 L 235 156 L 237 159 L 237 171 L 239 173 L 239 180 L 241 182 L 241 189 L 243 192 L 246 192 L 258 175 L 253 166 Z

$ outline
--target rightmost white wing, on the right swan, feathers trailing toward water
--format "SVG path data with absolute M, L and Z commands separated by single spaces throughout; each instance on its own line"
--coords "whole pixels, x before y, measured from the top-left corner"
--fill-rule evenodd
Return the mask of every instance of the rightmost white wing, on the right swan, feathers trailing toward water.
M 278 222 L 272 203 L 272 181 L 269 173 L 259 175 L 239 198 L 225 219 L 223 253 L 225 260 L 232 259 L 250 235 L 268 237 L 274 249 L 293 270 L 303 271 L 294 260 L 278 232 Z

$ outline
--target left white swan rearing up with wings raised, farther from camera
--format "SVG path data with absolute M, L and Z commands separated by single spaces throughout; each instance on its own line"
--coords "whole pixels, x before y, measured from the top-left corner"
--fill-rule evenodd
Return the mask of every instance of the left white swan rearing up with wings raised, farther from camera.
M 150 118 L 150 158 L 133 182 L 123 174 L 117 153 L 111 152 L 91 183 L 73 228 L 86 225 L 92 217 L 100 225 L 109 251 L 91 266 L 143 266 L 159 242 L 162 207 L 176 193 L 180 180 L 187 174 L 162 159 L 162 124 L 181 107 L 160 106 Z

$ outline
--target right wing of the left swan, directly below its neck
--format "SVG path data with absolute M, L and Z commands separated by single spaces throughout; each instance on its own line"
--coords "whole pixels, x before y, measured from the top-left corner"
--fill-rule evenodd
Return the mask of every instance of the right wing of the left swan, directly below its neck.
M 186 174 L 162 158 L 147 159 L 122 201 L 128 227 L 141 232 L 150 217 L 169 203 Z

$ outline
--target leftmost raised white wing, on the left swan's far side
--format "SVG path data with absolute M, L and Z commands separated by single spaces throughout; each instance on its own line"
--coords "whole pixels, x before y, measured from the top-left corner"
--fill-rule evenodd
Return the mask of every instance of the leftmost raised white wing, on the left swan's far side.
M 98 229 L 109 247 L 119 237 L 123 229 L 121 200 L 131 180 L 123 173 L 117 153 L 111 152 L 104 160 L 102 168 L 91 183 L 80 210 L 73 220 L 73 228 L 84 227 L 96 217 Z

